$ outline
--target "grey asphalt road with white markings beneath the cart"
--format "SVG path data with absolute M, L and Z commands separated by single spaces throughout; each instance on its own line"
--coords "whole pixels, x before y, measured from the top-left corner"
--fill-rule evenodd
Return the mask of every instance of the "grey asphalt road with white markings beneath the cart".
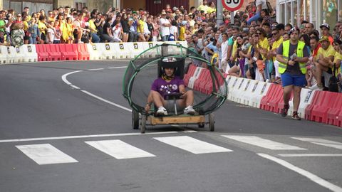
M 342 191 L 341 128 L 226 102 L 215 132 L 140 134 L 127 65 L 0 65 L 0 191 Z

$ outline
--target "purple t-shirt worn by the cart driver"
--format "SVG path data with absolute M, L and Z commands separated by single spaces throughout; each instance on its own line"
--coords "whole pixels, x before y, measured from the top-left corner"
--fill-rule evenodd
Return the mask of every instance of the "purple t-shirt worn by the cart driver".
M 180 92 L 178 89 L 178 86 L 184 85 L 184 81 L 180 79 L 180 77 L 175 77 L 170 82 L 166 82 L 162 78 L 157 78 L 151 87 L 151 90 L 155 90 L 162 95 L 162 97 L 166 97 L 166 95 L 169 95 L 170 93 Z

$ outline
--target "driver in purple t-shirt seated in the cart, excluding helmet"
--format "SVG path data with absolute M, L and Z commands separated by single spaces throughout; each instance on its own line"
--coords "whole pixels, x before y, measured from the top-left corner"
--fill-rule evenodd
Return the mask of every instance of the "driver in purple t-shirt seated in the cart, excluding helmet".
M 146 112 L 150 111 L 153 102 L 158 108 L 158 116 L 167 115 L 167 110 L 173 110 L 175 103 L 173 100 L 165 100 L 165 98 L 167 95 L 179 92 L 182 93 L 182 100 L 176 100 L 177 109 L 184 109 L 184 114 L 195 114 L 192 107 L 194 92 L 185 90 L 184 81 L 175 76 L 175 68 L 164 68 L 162 77 L 152 83 L 150 94 L 147 97 Z

